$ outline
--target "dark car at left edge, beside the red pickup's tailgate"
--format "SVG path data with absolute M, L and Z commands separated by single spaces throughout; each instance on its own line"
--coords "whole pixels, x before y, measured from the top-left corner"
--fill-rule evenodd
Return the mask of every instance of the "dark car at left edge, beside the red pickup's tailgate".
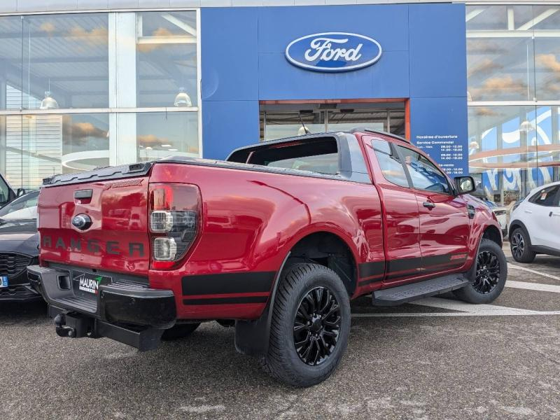
M 41 300 L 29 287 L 27 266 L 38 263 L 38 191 L 0 209 L 0 302 Z

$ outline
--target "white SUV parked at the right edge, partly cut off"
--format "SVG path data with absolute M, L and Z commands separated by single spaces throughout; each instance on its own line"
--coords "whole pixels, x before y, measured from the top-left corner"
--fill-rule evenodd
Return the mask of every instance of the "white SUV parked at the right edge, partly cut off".
M 535 254 L 560 256 L 560 182 L 535 188 L 515 204 L 510 219 L 510 247 L 518 262 Z

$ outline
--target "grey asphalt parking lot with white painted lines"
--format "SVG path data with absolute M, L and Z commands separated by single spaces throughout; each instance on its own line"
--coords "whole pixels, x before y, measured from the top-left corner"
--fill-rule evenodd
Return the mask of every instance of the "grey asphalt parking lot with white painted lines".
M 43 304 L 3 304 L 0 417 L 560 419 L 560 258 L 512 263 L 509 281 L 479 307 L 353 302 L 342 365 L 308 389 L 270 379 L 214 322 L 138 353 L 57 337 Z

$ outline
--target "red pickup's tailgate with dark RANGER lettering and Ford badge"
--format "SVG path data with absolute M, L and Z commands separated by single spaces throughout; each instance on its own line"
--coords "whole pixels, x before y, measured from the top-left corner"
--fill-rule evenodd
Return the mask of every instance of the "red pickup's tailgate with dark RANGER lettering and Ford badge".
M 126 165 L 45 180 L 38 200 L 41 261 L 147 276 L 150 168 Z

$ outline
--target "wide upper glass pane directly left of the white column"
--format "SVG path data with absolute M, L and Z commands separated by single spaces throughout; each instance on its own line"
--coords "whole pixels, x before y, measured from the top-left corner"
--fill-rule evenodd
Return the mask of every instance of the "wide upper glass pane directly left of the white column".
M 29 15 L 19 66 L 23 109 L 109 106 L 107 13 Z

